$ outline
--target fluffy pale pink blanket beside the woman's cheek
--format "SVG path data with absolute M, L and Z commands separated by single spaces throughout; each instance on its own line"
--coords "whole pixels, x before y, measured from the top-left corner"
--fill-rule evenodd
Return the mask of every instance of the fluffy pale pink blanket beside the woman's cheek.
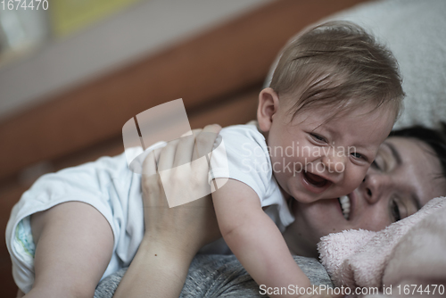
M 430 294 L 409 295 L 446 296 L 439 293 L 446 287 L 446 197 L 431 200 L 379 232 L 348 230 L 325 236 L 318 250 L 335 286 L 374 286 L 381 292 L 391 287 L 397 296 L 406 285 L 442 285 L 436 294 L 432 286 Z

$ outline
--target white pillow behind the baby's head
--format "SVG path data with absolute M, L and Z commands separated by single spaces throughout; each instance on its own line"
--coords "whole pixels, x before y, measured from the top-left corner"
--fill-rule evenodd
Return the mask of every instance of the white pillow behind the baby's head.
M 376 1 L 323 21 L 328 20 L 357 23 L 395 55 L 406 98 L 404 112 L 394 128 L 415 124 L 438 128 L 440 120 L 446 121 L 445 0 Z

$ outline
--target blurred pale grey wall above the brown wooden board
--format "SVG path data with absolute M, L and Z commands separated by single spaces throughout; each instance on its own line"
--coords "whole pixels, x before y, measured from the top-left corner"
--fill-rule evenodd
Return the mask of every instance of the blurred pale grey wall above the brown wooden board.
M 0 120 L 268 2 L 53 0 L 32 11 L 6 5 Z

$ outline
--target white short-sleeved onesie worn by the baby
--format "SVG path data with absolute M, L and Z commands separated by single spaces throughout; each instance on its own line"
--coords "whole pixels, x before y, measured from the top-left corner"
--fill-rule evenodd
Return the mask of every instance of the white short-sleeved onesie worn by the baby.
M 213 177 L 232 178 L 251 186 L 259 195 L 261 206 L 269 206 L 265 212 L 284 231 L 293 222 L 293 215 L 273 177 L 267 144 L 255 122 L 223 128 L 220 135 L 227 152 L 228 169 L 212 168 Z M 135 157 L 142 153 L 141 147 L 128 150 Z M 92 205 L 111 226 L 113 253 L 103 277 L 127 267 L 136 254 L 145 230 L 141 175 L 128 169 L 125 153 L 46 174 L 21 196 L 12 208 L 6 227 L 12 276 L 25 294 L 34 283 L 35 246 L 29 216 L 70 201 Z M 227 246 L 207 245 L 201 252 L 227 252 Z

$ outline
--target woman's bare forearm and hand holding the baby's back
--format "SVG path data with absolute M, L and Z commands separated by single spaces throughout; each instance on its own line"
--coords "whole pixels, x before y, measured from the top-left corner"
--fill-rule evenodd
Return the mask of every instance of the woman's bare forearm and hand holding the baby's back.
M 182 137 L 162 149 L 159 169 L 189 165 L 188 170 L 182 167 L 181 171 L 164 172 L 162 183 L 157 174 L 156 153 L 145 159 L 142 178 L 145 236 L 114 297 L 178 297 L 195 253 L 219 237 L 211 195 L 169 208 L 164 194 L 164 187 L 171 187 L 172 194 L 181 194 L 191 176 L 202 179 L 204 175 L 203 181 L 207 181 L 209 169 L 190 161 L 211 152 L 219 130 L 219 126 L 207 126 L 194 131 L 196 140 Z M 190 183 L 187 188 L 191 188 Z

